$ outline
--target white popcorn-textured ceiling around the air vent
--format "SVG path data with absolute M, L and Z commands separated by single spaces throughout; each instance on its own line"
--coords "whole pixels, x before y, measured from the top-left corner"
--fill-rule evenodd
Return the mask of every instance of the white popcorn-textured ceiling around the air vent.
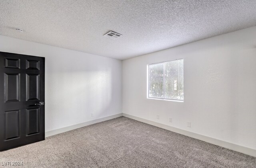
M 121 60 L 254 25 L 256 0 L 0 1 L 0 35 Z

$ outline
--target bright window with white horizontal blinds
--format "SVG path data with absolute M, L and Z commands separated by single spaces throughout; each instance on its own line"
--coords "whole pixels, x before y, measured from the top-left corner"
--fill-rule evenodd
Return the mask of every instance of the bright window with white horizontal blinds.
M 184 100 L 183 59 L 148 64 L 148 98 Z

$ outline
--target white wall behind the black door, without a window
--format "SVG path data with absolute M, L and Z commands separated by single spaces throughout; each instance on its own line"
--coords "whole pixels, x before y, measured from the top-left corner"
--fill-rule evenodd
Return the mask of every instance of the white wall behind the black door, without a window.
M 45 57 L 46 131 L 122 113 L 122 61 L 1 35 L 0 51 Z

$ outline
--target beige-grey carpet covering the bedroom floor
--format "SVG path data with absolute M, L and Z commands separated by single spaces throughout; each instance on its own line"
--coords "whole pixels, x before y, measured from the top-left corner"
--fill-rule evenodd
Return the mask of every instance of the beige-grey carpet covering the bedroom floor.
M 256 158 L 126 117 L 0 152 L 31 168 L 255 168 Z M 17 167 L 17 166 L 10 166 Z

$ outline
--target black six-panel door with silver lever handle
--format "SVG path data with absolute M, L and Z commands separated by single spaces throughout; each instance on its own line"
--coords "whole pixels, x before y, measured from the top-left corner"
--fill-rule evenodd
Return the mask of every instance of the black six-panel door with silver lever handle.
M 44 140 L 44 57 L 0 52 L 0 151 Z

